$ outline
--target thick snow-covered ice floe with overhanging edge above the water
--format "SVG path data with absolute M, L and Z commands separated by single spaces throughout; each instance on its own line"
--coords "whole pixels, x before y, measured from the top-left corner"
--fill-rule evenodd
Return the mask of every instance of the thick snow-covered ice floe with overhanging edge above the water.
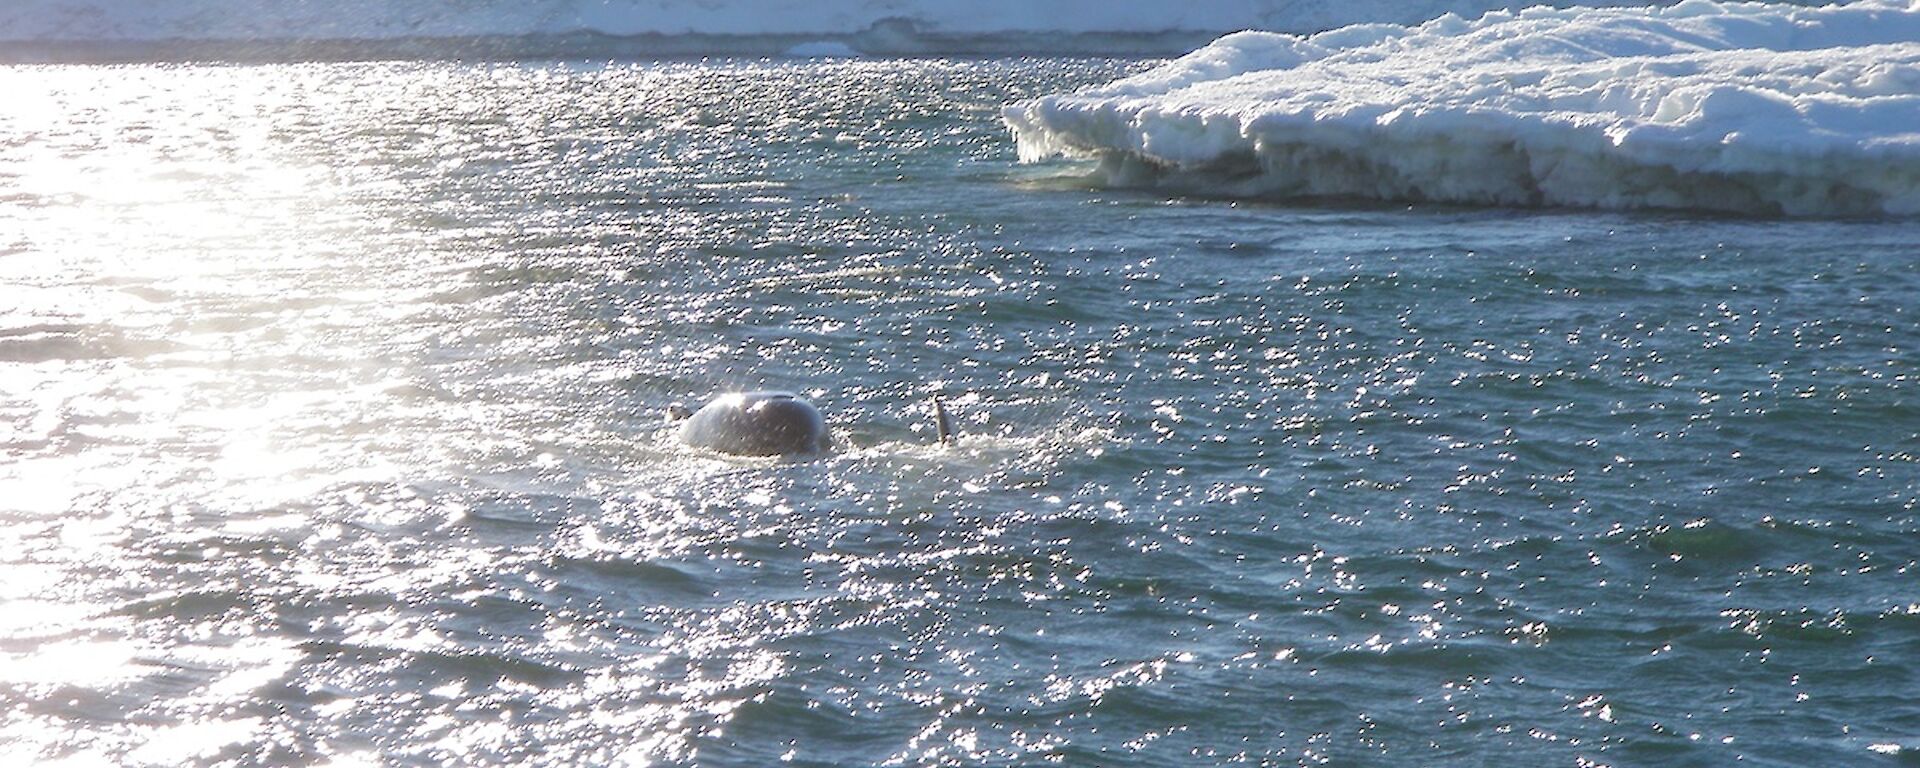
M 1235 196 L 1920 213 L 1920 2 L 1238 33 L 1006 108 L 1025 161 Z

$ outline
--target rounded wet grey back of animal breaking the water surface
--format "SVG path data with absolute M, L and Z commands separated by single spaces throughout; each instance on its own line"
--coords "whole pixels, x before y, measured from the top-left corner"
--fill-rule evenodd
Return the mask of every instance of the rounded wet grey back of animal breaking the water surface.
M 735 455 L 820 453 L 831 447 L 826 419 L 791 392 L 714 397 L 680 426 L 680 440 Z

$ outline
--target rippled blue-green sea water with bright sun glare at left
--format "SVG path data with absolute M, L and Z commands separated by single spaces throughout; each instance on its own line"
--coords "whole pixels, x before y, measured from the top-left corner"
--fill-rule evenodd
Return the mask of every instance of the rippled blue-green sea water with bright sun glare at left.
M 1142 65 L 0 69 L 0 753 L 1920 760 L 1920 225 L 1016 163 Z

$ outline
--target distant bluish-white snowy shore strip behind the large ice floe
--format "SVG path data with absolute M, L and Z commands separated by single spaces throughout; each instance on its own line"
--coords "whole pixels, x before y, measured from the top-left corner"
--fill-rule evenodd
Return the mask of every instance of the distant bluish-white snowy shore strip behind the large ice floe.
M 1540 0 L 1534 0 L 1540 2 Z M 1555 0 L 1567 4 L 1569 0 Z M 1619 0 L 1655 2 L 1655 0 Z M 0 40 L 382 40 L 407 36 L 933 36 L 1321 31 L 1419 23 L 1503 0 L 0 0 Z M 889 27 L 891 25 L 891 27 Z M 1044 38 L 1033 40 L 1044 46 Z M 1044 50 L 1035 50 L 1044 52 Z

